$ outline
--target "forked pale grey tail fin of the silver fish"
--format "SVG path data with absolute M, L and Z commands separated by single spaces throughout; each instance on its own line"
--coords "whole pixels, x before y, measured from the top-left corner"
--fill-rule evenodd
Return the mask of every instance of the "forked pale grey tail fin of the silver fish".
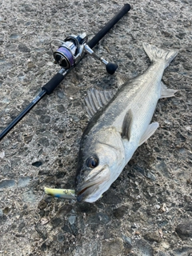
M 149 56 L 151 62 L 157 62 L 158 60 L 163 60 L 165 62 L 165 68 L 170 65 L 170 62 L 172 62 L 172 60 L 178 54 L 176 50 L 163 50 L 156 46 L 152 46 L 146 42 L 144 42 L 142 46 L 146 54 Z

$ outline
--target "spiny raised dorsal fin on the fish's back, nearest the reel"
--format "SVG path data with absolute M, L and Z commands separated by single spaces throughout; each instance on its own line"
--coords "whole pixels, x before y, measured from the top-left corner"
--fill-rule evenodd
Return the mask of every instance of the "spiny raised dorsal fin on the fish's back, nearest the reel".
M 110 99 L 114 97 L 114 90 L 96 90 L 91 88 L 87 91 L 86 112 L 90 118 L 102 107 L 105 106 Z

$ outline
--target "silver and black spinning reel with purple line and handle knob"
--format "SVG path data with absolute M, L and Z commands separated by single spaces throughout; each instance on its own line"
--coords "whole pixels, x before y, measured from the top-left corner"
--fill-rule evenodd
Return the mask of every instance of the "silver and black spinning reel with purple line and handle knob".
M 63 69 L 69 70 L 80 62 L 84 54 L 90 54 L 106 66 L 106 71 L 109 74 L 114 74 L 118 65 L 107 62 L 104 58 L 99 57 L 98 54 L 95 54 L 94 50 L 86 44 L 86 42 L 86 33 L 79 34 L 78 36 L 72 34 L 64 39 L 64 41 L 55 39 L 50 42 L 50 48 L 54 54 L 55 63 L 58 63 L 58 65 L 62 66 Z

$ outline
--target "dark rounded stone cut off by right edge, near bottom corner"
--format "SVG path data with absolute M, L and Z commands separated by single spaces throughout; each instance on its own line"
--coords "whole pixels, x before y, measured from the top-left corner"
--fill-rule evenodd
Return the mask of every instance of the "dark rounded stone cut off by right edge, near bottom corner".
M 183 240 L 192 238 L 192 220 L 182 222 L 176 226 L 175 231 Z

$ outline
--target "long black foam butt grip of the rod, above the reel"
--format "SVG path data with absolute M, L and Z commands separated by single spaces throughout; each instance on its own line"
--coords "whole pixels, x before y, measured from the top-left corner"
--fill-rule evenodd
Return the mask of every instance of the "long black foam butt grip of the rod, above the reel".
M 88 46 L 90 48 L 94 48 L 98 44 L 98 42 L 109 32 L 109 30 L 130 10 L 130 5 L 126 3 L 122 9 L 102 28 L 102 30 L 98 31 L 98 34 L 95 34 L 94 38 L 88 42 Z

